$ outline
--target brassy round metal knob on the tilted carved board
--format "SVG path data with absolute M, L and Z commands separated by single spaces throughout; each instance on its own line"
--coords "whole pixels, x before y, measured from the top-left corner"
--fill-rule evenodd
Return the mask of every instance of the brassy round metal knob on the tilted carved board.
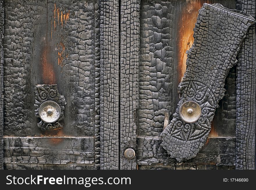
M 187 123 L 196 122 L 201 116 L 201 108 L 194 101 L 186 101 L 179 108 L 179 115 Z

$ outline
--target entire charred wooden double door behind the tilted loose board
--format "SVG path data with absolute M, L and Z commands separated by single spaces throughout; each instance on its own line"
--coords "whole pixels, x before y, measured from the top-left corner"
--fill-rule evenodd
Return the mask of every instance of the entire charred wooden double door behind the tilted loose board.
M 226 9 L 255 17 L 255 0 L 0 3 L 4 169 L 255 169 L 255 25 Z M 214 104 L 207 141 L 193 158 L 177 161 L 161 145 L 163 131 L 188 89 L 178 86 L 195 23 L 205 19 L 198 21 L 203 3 L 244 14 L 246 22 L 232 28 L 249 30 L 237 66 L 233 59 L 232 68 L 223 66 L 225 94 L 216 93 L 224 97 L 216 111 Z M 47 101 L 60 108 L 57 122 L 39 117 Z

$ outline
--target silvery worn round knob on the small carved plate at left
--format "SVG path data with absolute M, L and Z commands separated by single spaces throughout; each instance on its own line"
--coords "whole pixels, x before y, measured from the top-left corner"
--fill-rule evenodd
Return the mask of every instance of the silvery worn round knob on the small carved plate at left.
M 44 122 L 54 123 L 61 116 L 61 107 L 54 101 L 46 101 L 40 105 L 38 113 Z

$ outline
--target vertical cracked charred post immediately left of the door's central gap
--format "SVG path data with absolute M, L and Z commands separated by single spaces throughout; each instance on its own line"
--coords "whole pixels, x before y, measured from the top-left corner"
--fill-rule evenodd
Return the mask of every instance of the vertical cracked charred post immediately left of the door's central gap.
M 119 1 L 100 11 L 100 169 L 119 169 Z

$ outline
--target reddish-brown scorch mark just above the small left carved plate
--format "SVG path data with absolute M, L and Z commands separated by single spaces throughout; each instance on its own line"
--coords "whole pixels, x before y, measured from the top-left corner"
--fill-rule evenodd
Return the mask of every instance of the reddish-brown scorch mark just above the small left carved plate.
M 49 61 L 49 53 L 48 47 L 45 46 L 42 51 L 42 81 L 43 84 L 48 85 L 56 83 L 53 66 Z

